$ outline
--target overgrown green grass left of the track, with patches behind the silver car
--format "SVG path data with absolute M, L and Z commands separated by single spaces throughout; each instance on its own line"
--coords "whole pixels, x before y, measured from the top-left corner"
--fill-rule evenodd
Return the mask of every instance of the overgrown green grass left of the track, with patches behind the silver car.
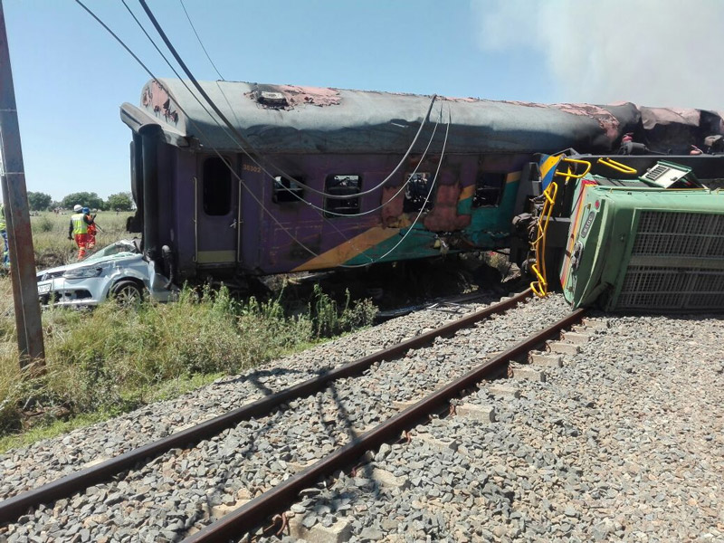
M 35 249 L 51 254 L 63 247 L 55 238 L 70 218 L 45 218 L 33 217 L 33 230 L 40 231 Z M 119 228 L 116 239 L 121 237 L 127 234 Z M 113 241 L 109 235 L 99 244 Z M 12 306 L 10 281 L 2 278 L 0 452 L 176 397 L 367 326 L 376 311 L 369 301 L 349 297 L 338 305 L 319 288 L 299 313 L 288 310 L 283 291 L 271 300 L 237 300 L 224 289 L 188 287 L 175 303 L 148 302 L 138 310 L 121 310 L 113 302 L 93 311 L 46 310 L 46 363 L 38 376 L 33 368 L 18 367 Z

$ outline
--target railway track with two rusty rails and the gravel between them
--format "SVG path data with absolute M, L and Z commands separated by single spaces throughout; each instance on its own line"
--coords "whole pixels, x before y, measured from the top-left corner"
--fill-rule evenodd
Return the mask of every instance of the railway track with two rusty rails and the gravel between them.
M 111 459 L 110 461 L 101 462 L 89 469 L 72 473 L 59 481 L 53 481 L 33 491 L 16 495 L 0 502 L 0 520 L 4 523 L 12 523 L 14 519 L 23 517 L 24 521 L 27 521 L 31 518 L 31 515 L 26 514 L 30 508 L 41 510 L 51 509 L 52 507 L 53 516 L 58 516 L 58 513 L 61 513 L 62 510 L 67 509 L 69 506 L 72 510 L 74 503 L 78 505 L 80 504 L 78 503 L 79 501 L 83 502 L 84 500 L 78 498 L 79 494 L 83 494 L 83 492 L 83 495 L 90 496 L 91 498 L 100 492 L 102 500 L 99 501 L 104 504 L 105 509 L 102 505 L 100 508 L 89 508 L 88 505 L 92 504 L 84 503 L 81 505 L 81 510 L 85 509 L 85 513 L 87 514 L 89 512 L 92 513 L 93 510 L 97 511 L 100 509 L 100 515 L 102 517 L 103 511 L 109 508 L 109 502 L 112 502 L 110 505 L 110 507 L 112 507 L 117 503 L 143 501 L 144 492 L 158 490 L 160 491 L 159 494 L 163 494 L 163 485 L 157 489 L 147 488 L 149 487 L 148 481 L 154 477 L 150 472 L 158 468 L 164 473 L 161 478 L 162 480 L 173 480 L 176 476 L 181 476 L 182 481 L 185 479 L 186 481 L 184 482 L 188 482 L 189 478 L 187 476 L 183 477 L 187 475 L 187 473 L 184 473 L 186 472 L 186 467 L 189 465 L 198 465 L 197 460 L 199 458 L 206 458 L 211 450 L 213 450 L 216 455 L 220 454 L 223 458 L 231 458 L 232 456 L 241 457 L 241 460 L 229 462 L 229 470 L 226 472 L 224 472 L 224 470 L 221 470 L 221 472 L 216 470 L 216 472 L 213 473 L 216 477 L 216 484 L 218 484 L 218 481 L 224 481 L 224 478 L 243 479 L 243 477 L 249 475 L 250 470 L 244 470 L 242 464 L 251 457 L 269 452 L 269 450 L 273 448 L 267 446 L 269 443 L 264 442 L 271 442 L 273 434 L 275 432 L 279 433 L 277 426 L 286 424 L 287 428 L 290 426 L 293 428 L 294 424 L 298 423 L 299 416 L 294 415 L 295 407 L 310 400 L 311 403 L 317 402 L 319 405 L 322 405 L 322 403 L 327 402 L 329 399 L 325 398 L 325 395 L 338 395 L 336 399 L 332 398 L 332 407 L 341 407 L 342 409 L 338 409 L 338 411 L 343 412 L 345 405 L 343 405 L 344 401 L 340 400 L 340 398 L 344 400 L 344 398 L 352 396 L 366 395 L 367 397 L 362 398 L 361 402 L 367 405 L 369 412 L 377 410 L 378 413 L 375 413 L 375 416 L 366 417 L 363 415 L 359 421 L 348 420 L 346 422 L 347 427 L 344 431 L 328 433 L 327 437 L 329 439 L 327 439 L 325 443 L 320 444 L 319 451 L 313 451 L 311 454 L 308 452 L 306 456 L 300 454 L 298 451 L 300 447 L 296 447 L 294 443 L 282 445 L 281 455 L 277 455 L 277 459 L 273 461 L 276 462 L 277 466 L 282 467 L 279 477 L 271 477 L 271 480 L 266 484 L 254 479 L 249 480 L 247 477 L 247 492 L 244 495 L 248 495 L 248 498 L 253 499 L 238 511 L 195 533 L 191 536 L 190 540 L 224 540 L 225 538 L 238 536 L 238 534 L 244 531 L 252 531 L 262 524 L 264 519 L 268 519 L 271 515 L 281 512 L 284 508 L 288 507 L 296 498 L 299 491 L 311 485 L 311 481 L 316 481 L 321 477 L 327 477 L 332 472 L 348 467 L 348 465 L 357 462 L 365 451 L 374 450 L 381 443 L 395 440 L 403 429 L 411 427 L 421 418 L 431 413 L 440 411 L 449 405 L 452 398 L 461 394 L 463 390 L 473 386 L 484 376 L 489 376 L 491 371 L 500 371 L 500 367 L 507 364 L 510 359 L 526 355 L 530 348 L 539 345 L 546 338 L 555 335 L 560 329 L 567 328 L 572 323 L 581 319 L 581 312 L 567 315 L 563 319 L 554 319 L 556 311 L 552 311 L 552 314 L 546 315 L 544 319 L 550 321 L 547 322 L 547 326 L 525 341 L 516 343 L 513 341 L 514 334 L 510 334 L 506 340 L 502 342 L 500 339 L 492 341 L 491 348 L 499 347 L 501 344 L 506 344 L 507 348 L 497 356 L 482 357 L 486 358 L 482 363 L 480 363 L 480 360 L 466 360 L 463 362 L 455 357 L 446 358 L 444 354 L 442 356 L 443 359 L 441 359 L 440 355 L 438 355 L 437 361 L 439 366 L 447 367 L 446 370 L 443 369 L 443 373 L 456 376 L 451 384 L 443 386 L 442 388 L 438 387 L 442 382 L 442 377 L 440 376 L 435 376 L 431 382 L 426 382 L 423 379 L 423 385 L 420 388 L 413 388 L 415 385 L 419 385 L 419 379 L 418 383 L 408 383 L 401 378 L 396 392 L 391 391 L 388 383 L 381 383 L 379 379 L 376 379 L 376 371 L 379 370 L 381 366 L 384 367 L 389 364 L 389 362 L 386 362 L 383 365 L 381 364 L 382 361 L 389 361 L 395 357 L 398 360 L 402 360 L 403 365 L 406 364 L 405 372 L 407 375 L 424 376 L 427 371 L 425 367 L 429 366 L 428 364 L 415 365 L 414 363 L 405 363 L 405 360 L 409 362 L 411 358 L 414 358 L 414 354 L 410 354 L 413 349 L 423 348 L 424 350 L 424 346 L 430 346 L 431 343 L 433 343 L 434 346 L 436 345 L 435 341 L 440 342 L 439 339 L 436 340 L 435 338 L 449 338 L 455 332 L 461 330 L 462 333 L 459 336 L 452 338 L 452 343 L 457 341 L 458 344 L 464 345 L 469 344 L 471 340 L 473 342 L 479 341 L 477 336 L 475 338 L 468 338 L 468 335 L 472 334 L 471 330 L 475 330 L 469 327 L 474 326 L 475 323 L 481 323 L 479 328 L 487 329 L 487 332 L 485 330 L 482 331 L 483 338 L 486 333 L 492 337 L 492 330 L 496 329 L 497 326 L 494 316 L 510 310 L 510 308 L 524 300 L 527 295 L 527 292 L 522 293 L 510 300 L 495 304 L 486 310 L 481 310 L 462 319 L 455 320 L 440 329 L 435 329 L 416 338 L 404 341 L 374 355 L 360 358 L 354 362 L 338 367 L 325 375 L 315 377 L 297 386 L 292 386 L 281 392 L 269 395 L 259 401 L 253 402 L 251 405 L 245 405 L 239 409 L 235 409 L 230 413 L 216 417 L 204 424 L 171 435 L 164 440 L 148 443 L 148 445 L 121 454 L 119 457 Z M 530 303 L 531 302 L 523 304 L 522 307 L 526 308 Z M 536 301 L 533 303 L 538 304 L 540 307 L 545 307 L 545 302 Z M 557 308 L 557 312 L 562 312 L 562 307 Z M 513 313 L 515 313 L 515 311 L 513 311 Z M 529 318 L 522 317 L 516 326 L 519 329 L 525 329 L 530 326 L 529 322 Z M 478 329 L 476 334 L 480 332 L 481 330 Z M 518 332 L 519 330 L 516 331 L 516 333 Z M 515 345 L 509 346 L 510 344 Z M 454 350 L 455 348 L 453 345 L 452 348 L 448 350 Z M 430 347 L 428 347 L 428 349 L 430 349 Z M 355 376 L 358 377 L 355 378 Z M 349 383 L 353 383 L 356 380 L 364 380 L 366 383 L 361 385 L 362 388 L 359 388 L 360 385 L 355 385 L 357 389 L 355 389 L 354 386 L 349 386 Z M 428 398 L 408 407 L 401 413 L 397 413 L 395 407 L 392 405 L 395 400 L 409 400 L 410 390 L 414 390 L 414 395 L 419 395 L 420 392 L 432 391 L 435 388 L 438 389 Z M 355 392 L 357 392 L 357 394 L 355 394 Z M 405 394 L 407 397 L 405 397 Z M 376 409 L 380 407 L 380 405 L 384 408 Z M 329 413 L 329 409 L 326 411 Z M 319 412 L 320 426 L 335 424 L 335 421 L 329 420 L 329 417 L 325 419 L 326 414 L 324 408 L 319 407 Z M 347 416 L 348 419 L 350 418 L 349 414 L 345 416 Z M 391 418 L 389 418 L 390 416 Z M 376 425 L 375 428 L 367 433 L 359 435 L 360 426 L 369 426 L 370 422 L 374 423 L 379 420 L 385 420 L 386 418 L 389 418 L 389 420 Z M 263 423 L 261 423 L 262 420 L 264 421 Z M 246 424 L 243 424 L 244 422 Z M 345 421 L 337 421 L 337 423 L 339 422 L 344 423 Z M 241 427 L 242 433 L 251 433 L 252 438 L 249 439 L 249 435 L 243 439 L 236 436 L 234 433 L 239 431 L 239 427 Z M 222 436 L 219 437 L 219 434 L 222 434 Z M 288 433 L 287 437 L 289 437 L 289 435 L 293 438 L 294 433 Z M 202 442 L 202 445 L 206 443 L 206 446 L 193 449 L 188 448 L 190 443 L 199 442 Z M 276 443 L 274 444 L 276 445 Z M 334 449 L 340 445 L 341 448 L 334 451 Z M 285 447 L 287 449 L 286 451 L 284 451 Z M 329 452 L 330 448 L 332 452 Z M 278 446 L 276 450 L 280 452 Z M 291 452 L 291 454 L 289 454 L 289 452 Z M 285 453 L 287 453 L 287 461 L 282 458 L 282 456 L 285 456 Z M 310 467 L 304 467 L 305 462 L 310 462 L 310 458 L 317 459 L 319 457 L 322 457 L 322 460 L 313 463 Z M 290 458 L 291 462 L 289 461 Z M 151 462 L 148 462 L 148 460 L 151 460 Z M 294 465 L 295 463 L 296 465 Z M 234 467 L 242 469 L 234 471 Z M 252 470 L 253 469 L 255 468 L 252 468 Z M 127 472 L 129 470 L 130 472 Z M 203 478 L 209 471 L 214 470 L 207 470 L 203 467 L 196 468 L 195 475 Z M 292 475 L 291 472 L 298 473 Z M 114 481 L 110 481 L 110 483 L 103 482 L 109 481 L 111 478 L 115 478 Z M 188 485 L 181 484 L 179 486 Z M 269 486 L 273 488 L 268 489 L 267 487 Z M 98 491 L 98 488 L 100 488 L 100 491 Z M 231 491 L 233 493 L 234 489 L 231 488 Z M 224 489 L 224 492 L 229 493 L 228 489 Z M 205 494 L 206 492 L 202 491 L 200 494 L 197 494 L 196 497 L 192 497 L 190 501 L 192 503 L 198 502 L 199 496 L 205 496 Z M 240 493 L 238 491 L 233 493 L 233 495 L 235 496 L 234 499 L 223 501 L 227 509 L 235 507 L 239 505 L 239 503 L 247 500 L 247 498 L 239 499 Z M 254 497 L 255 495 L 256 497 Z M 58 502 L 52 504 L 52 502 L 56 500 L 60 502 L 60 505 Z M 91 499 L 90 502 L 92 501 Z M 273 510 L 271 507 L 272 504 Z M 153 507 L 147 507 L 145 509 L 152 511 Z M 178 539 L 182 535 L 193 532 L 193 527 L 197 523 L 200 525 L 206 524 L 208 521 L 208 519 L 206 519 L 207 517 L 219 516 L 220 509 L 218 507 L 215 511 L 213 508 L 211 509 L 211 512 L 199 510 L 196 514 L 184 513 L 181 516 L 182 518 L 185 517 L 181 522 L 181 527 L 177 526 L 178 522 L 175 520 L 174 525 L 177 529 L 171 530 L 170 532 L 167 530 L 164 537 Z M 62 513 L 61 516 L 63 516 Z M 92 516 L 91 514 L 90 517 Z M 79 522 L 83 522 L 81 517 L 76 517 L 72 511 L 68 512 L 66 518 L 76 518 Z M 141 520 L 139 525 L 143 524 L 144 521 Z M 162 530 L 158 533 L 161 532 Z M 172 536 L 172 534 L 176 535 L 169 537 Z

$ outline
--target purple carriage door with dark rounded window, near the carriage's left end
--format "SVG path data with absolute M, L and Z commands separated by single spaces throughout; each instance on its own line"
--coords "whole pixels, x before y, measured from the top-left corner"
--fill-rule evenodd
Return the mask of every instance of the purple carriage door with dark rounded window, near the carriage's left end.
M 199 157 L 196 186 L 196 262 L 235 265 L 240 255 L 239 183 L 228 157 Z

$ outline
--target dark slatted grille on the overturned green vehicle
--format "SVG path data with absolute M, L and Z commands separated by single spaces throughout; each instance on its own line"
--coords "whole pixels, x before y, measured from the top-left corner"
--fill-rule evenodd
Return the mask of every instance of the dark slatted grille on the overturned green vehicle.
M 724 214 L 645 211 L 617 310 L 724 309 Z M 633 263 L 632 262 L 632 263 Z

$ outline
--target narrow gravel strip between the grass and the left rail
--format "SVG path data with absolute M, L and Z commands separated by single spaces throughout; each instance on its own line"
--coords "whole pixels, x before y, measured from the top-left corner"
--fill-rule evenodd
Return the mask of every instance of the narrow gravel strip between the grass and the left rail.
M 464 304 L 461 314 L 480 310 L 492 301 L 497 299 Z M 157 402 L 106 423 L 6 452 L 0 455 L 0 500 L 252 403 L 460 316 L 437 310 L 417 311 L 240 376 L 220 379 L 175 400 Z

